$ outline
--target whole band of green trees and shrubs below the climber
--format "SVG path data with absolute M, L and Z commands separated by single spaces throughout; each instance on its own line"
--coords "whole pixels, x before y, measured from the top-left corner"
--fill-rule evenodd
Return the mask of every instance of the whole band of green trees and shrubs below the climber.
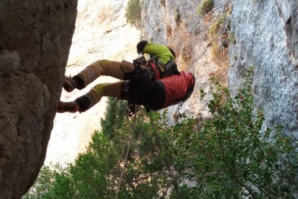
M 234 97 L 211 78 L 209 119 L 167 126 L 165 112 L 139 111 L 119 198 L 297 196 L 298 154 L 280 126 L 266 128 L 262 111 L 254 113 L 253 68 L 248 72 Z M 110 98 L 103 130 L 94 132 L 86 152 L 66 168 L 43 167 L 24 198 L 115 197 L 121 173 L 115 170 L 131 123 L 126 103 Z

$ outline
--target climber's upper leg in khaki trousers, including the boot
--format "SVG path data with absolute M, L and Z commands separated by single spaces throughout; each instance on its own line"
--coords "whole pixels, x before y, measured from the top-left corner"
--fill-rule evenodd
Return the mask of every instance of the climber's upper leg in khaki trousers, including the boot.
M 75 88 L 83 89 L 101 75 L 126 80 L 131 78 L 133 71 L 134 65 L 124 60 L 122 62 L 99 60 L 87 66 L 74 77 L 67 77 L 63 87 L 68 92 Z

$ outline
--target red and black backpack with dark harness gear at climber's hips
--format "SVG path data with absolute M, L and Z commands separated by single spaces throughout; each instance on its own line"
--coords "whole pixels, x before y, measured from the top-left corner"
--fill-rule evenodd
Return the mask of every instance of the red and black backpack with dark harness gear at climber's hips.
M 149 70 L 142 70 L 139 63 L 146 64 Z M 145 62 L 142 57 L 134 60 L 133 78 L 122 89 L 122 98 L 128 100 L 128 107 L 143 105 L 147 111 L 160 110 L 189 98 L 194 88 L 194 76 L 187 71 L 178 72 L 176 65 L 162 72 L 158 64 L 157 60 Z

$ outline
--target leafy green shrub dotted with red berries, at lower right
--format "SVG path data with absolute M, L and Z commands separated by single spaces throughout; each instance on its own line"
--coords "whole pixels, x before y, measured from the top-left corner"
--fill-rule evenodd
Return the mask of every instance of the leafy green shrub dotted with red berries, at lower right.
M 266 128 L 262 110 L 255 113 L 253 68 L 248 72 L 236 96 L 211 78 L 216 90 L 208 104 L 212 117 L 202 125 L 188 119 L 172 128 L 179 132 L 174 135 L 175 167 L 196 183 L 174 192 L 196 194 L 188 198 L 298 196 L 298 154 L 282 127 Z M 203 99 L 206 93 L 200 92 Z

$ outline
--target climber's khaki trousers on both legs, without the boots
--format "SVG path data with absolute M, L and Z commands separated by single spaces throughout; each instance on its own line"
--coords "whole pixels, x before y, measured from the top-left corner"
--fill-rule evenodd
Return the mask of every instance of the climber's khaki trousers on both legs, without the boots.
M 120 80 L 127 80 L 132 77 L 133 71 L 134 65 L 130 62 L 124 60 L 122 62 L 100 60 L 87 66 L 77 75 L 83 79 L 86 86 L 101 75 L 115 77 Z M 84 107 L 82 109 L 85 111 L 100 102 L 102 96 L 117 97 L 118 100 L 122 100 L 121 91 L 124 83 L 125 81 L 97 84 L 89 92 L 78 97 L 75 101 L 80 107 Z M 82 97 L 88 98 L 90 104 L 85 105 L 85 103 L 82 103 Z

